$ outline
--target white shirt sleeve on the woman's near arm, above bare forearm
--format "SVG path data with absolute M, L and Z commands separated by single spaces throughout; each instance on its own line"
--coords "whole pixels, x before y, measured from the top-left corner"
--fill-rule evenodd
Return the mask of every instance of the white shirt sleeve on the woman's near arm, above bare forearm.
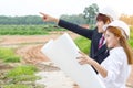
M 114 81 L 120 74 L 120 67 L 122 65 L 122 62 L 119 56 L 112 54 L 105 61 L 101 64 L 106 70 L 108 70 L 108 76 L 105 78 L 102 78 L 104 81 Z

